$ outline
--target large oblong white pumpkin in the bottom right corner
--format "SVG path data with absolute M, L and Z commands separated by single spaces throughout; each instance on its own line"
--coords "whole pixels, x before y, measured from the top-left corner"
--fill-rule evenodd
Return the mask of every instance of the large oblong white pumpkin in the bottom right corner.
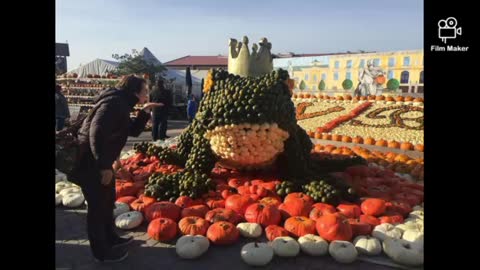
M 390 259 L 399 264 L 409 266 L 420 266 L 423 264 L 423 252 L 418 250 L 412 243 L 403 239 L 385 239 L 383 251 Z

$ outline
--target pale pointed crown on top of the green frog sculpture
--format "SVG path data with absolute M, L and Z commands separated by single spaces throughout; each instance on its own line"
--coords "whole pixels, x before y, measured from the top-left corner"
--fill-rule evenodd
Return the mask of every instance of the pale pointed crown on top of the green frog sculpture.
M 228 72 L 241 77 L 258 77 L 273 70 L 273 58 L 270 50 L 272 44 L 266 38 L 260 39 L 258 45 L 248 49 L 248 37 L 243 42 L 231 38 L 228 50 Z M 260 46 L 260 49 L 258 48 Z

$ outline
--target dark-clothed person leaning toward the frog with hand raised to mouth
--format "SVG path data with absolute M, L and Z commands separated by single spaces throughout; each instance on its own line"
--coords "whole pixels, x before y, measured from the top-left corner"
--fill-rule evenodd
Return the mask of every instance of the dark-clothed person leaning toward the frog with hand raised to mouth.
M 139 136 L 150 117 L 151 108 L 162 104 L 147 103 L 137 117 L 130 118 L 135 104 L 147 101 L 144 79 L 127 76 L 118 89 L 103 91 L 92 115 L 79 130 L 81 158 L 69 179 L 82 187 L 88 201 L 87 230 L 96 260 L 117 262 L 128 253 L 121 247 L 133 239 L 121 238 L 114 231 L 113 209 L 115 178 L 112 164 L 118 159 L 128 136 Z

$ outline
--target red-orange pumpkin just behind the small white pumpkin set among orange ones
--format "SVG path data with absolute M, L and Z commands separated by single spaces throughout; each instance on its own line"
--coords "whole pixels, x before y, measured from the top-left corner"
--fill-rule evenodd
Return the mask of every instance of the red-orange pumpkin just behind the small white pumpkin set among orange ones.
M 245 219 L 248 222 L 258 223 L 263 227 L 267 227 L 268 225 L 278 225 L 282 217 L 276 206 L 254 203 L 245 211 Z

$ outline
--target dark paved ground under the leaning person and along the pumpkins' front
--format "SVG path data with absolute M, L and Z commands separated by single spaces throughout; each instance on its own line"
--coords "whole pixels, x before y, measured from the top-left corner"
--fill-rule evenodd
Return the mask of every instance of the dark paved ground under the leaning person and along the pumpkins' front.
M 188 261 L 177 257 L 173 243 L 160 243 L 146 234 L 146 225 L 124 233 L 134 236 L 129 257 L 115 264 L 96 263 L 90 253 L 85 229 L 86 210 L 56 209 L 55 266 L 72 270 L 158 270 L 158 269 L 250 269 L 241 259 L 242 246 L 251 240 L 241 239 L 232 246 L 210 246 L 198 260 Z M 260 241 L 266 241 L 263 238 Z M 275 257 L 264 269 L 322 269 L 322 270 L 392 270 L 387 266 L 356 261 L 350 265 L 339 264 L 330 256 L 309 257 L 300 255 L 293 259 Z

